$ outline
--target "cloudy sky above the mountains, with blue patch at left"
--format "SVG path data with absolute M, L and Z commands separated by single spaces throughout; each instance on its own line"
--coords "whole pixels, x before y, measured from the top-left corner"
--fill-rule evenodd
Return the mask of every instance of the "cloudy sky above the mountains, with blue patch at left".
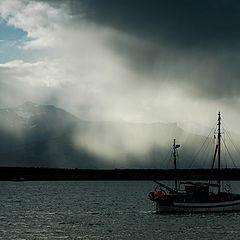
M 0 107 L 240 133 L 237 0 L 1 0 Z

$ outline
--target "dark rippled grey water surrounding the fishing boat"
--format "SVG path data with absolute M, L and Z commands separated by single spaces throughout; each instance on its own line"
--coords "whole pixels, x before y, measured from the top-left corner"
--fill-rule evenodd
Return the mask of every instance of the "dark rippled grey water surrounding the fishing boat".
M 1 182 L 0 239 L 240 239 L 240 213 L 155 214 L 153 187 Z

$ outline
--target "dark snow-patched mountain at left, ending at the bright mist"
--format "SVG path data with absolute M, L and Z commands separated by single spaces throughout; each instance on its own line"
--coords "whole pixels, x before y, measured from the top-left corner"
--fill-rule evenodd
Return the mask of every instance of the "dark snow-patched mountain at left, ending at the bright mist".
M 85 127 L 70 113 L 51 105 L 26 102 L 0 110 L 0 159 L 4 166 L 95 167 L 88 153 L 76 149 L 71 133 Z M 84 159 L 80 164 L 79 159 Z

